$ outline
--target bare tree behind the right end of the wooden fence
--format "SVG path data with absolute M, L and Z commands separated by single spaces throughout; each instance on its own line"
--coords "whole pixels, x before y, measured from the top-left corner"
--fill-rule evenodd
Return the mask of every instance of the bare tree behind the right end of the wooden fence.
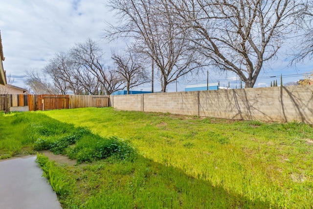
M 105 94 L 122 90 L 124 88 L 123 79 L 110 67 L 105 67 L 103 62 L 103 52 L 96 42 L 88 39 L 84 43 L 75 44 L 70 50 L 71 56 L 79 66 L 80 72 L 85 75 L 93 75 Z M 88 79 L 88 76 L 84 77 Z M 89 77 L 91 79 L 91 77 Z M 99 85 L 100 86 L 100 85 Z

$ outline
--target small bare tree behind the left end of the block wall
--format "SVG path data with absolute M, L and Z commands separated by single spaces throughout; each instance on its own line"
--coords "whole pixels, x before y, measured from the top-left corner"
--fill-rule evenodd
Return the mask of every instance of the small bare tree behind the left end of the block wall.
M 126 90 L 148 82 L 147 72 L 139 63 L 137 57 L 131 51 L 118 54 L 112 50 L 112 59 L 117 66 L 117 73 L 126 81 Z

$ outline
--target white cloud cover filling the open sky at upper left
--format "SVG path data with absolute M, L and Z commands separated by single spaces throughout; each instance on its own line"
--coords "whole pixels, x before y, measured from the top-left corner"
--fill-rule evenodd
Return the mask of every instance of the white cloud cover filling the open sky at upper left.
M 3 62 L 7 73 L 16 75 L 15 85 L 24 86 L 25 70 L 41 69 L 58 51 L 65 51 L 87 38 L 100 41 L 104 21 L 112 13 L 103 0 L 14 0 L 1 2 L 0 30 Z

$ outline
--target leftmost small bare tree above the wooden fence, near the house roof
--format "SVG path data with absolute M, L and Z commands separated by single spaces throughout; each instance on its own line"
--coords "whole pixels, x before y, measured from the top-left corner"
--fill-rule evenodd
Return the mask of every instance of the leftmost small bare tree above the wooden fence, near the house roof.
M 29 92 L 34 94 L 59 94 L 59 89 L 51 85 L 46 78 L 36 70 L 26 70 L 25 84 L 29 87 Z

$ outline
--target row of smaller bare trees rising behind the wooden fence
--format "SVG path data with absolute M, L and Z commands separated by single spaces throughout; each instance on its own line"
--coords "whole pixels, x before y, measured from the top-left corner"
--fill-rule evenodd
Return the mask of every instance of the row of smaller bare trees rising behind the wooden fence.
M 107 94 L 149 81 L 146 70 L 131 51 L 112 51 L 112 66 L 95 41 L 77 43 L 67 52 L 58 52 L 39 72 L 27 71 L 25 83 L 33 93 Z

